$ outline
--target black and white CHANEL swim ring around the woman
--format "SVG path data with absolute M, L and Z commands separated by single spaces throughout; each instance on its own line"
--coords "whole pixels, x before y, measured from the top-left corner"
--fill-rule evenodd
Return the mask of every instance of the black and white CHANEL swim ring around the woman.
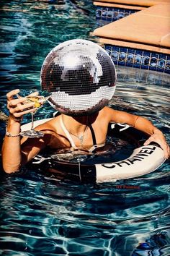
M 42 119 L 35 121 L 35 125 L 49 121 L 50 119 Z M 30 124 L 22 125 L 22 131 L 30 129 Z M 146 140 L 146 135 L 139 132 L 137 129 L 128 126 L 127 124 L 109 124 L 109 136 L 120 136 L 133 138 L 135 142 L 140 144 L 141 139 Z M 78 175 L 81 181 L 86 182 L 112 182 L 117 179 L 130 179 L 138 176 L 143 176 L 155 171 L 161 166 L 166 159 L 164 151 L 156 142 L 151 142 L 150 145 L 141 145 L 133 150 L 133 153 L 122 161 L 111 163 L 94 163 L 86 165 L 84 163 L 68 163 L 63 161 L 55 161 L 50 158 L 44 158 L 42 155 L 37 155 L 32 163 L 35 166 L 42 166 L 48 163 L 50 168 L 56 168 L 61 171 L 67 171 L 73 176 Z

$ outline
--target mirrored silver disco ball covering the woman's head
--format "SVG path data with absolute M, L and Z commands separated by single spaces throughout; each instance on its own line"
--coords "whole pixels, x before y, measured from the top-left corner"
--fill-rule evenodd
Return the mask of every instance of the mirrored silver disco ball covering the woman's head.
M 115 82 L 109 54 L 89 40 L 59 44 L 42 64 L 42 90 L 51 92 L 51 106 L 66 115 L 82 116 L 102 109 L 115 93 Z

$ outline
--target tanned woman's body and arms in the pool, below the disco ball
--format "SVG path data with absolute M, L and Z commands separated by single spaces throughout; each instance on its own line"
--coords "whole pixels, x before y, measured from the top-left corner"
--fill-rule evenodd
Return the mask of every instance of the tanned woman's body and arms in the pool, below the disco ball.
M 169 158 L 169 145 L 163 133 L 153 126 L 151 121 L 123 111 L 117 111 L 104 106 L 100 111 L 91 115 L 68 116 L 61 114 L 41 124 L 35 129 L 44 132 L 42 138 L 25 138 L 19 135 L 21 121 L 24 114 L 35 111 L 35 103 L 24 104 L 25 98 L 14 98 L 19 90 L 7 93 L 7 108 L 9 121 L 2 147 L 2 161 L 4 171 L 8 174 L 19 171 L 37 155 L 40 150 L 49 147 L 53 149 L 92 150 L 104 145 L 109 122 L 126 123 L 150 135 L 144 145 L 157 142 Z

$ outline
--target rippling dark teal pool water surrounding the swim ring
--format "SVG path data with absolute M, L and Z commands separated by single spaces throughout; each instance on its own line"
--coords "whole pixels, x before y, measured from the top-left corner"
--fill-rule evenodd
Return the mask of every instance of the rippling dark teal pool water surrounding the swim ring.
M 9 90 L 40 88 L 40 67 L 51 48 L 74 38 L 97 41 L 91 35 L 92 1 L 78 5 L 1 1 L 0 109 L 5 114 Z M 109 105 L 147 117 L 170 142 L 170 76 L 117 67 L 117 77 Z M 50 116 L 53 108 L 45 103 L 35 118 Z M 4 131 L 1 121 L 1 142 Z M 80 184 L 26 168 L 22 174 L 1 171 L 0 182 L 0 255 L 169 255 L 169 161 L 151 174 L 117 182 Z

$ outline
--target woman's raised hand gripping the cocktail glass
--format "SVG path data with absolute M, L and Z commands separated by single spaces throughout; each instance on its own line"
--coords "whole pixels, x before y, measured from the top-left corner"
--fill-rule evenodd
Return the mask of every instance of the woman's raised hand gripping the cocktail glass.
M 10 116 L 16 121 L 20 121 L 24 114 L 34 112 L 36 110 L 35 103 L 27 103 L 27 99 L 18 96 L 19 89 L 12 90 L 6 94 L 7 108 L 9 109 Z M 17 95 L 18 98 L 14 98 Z

